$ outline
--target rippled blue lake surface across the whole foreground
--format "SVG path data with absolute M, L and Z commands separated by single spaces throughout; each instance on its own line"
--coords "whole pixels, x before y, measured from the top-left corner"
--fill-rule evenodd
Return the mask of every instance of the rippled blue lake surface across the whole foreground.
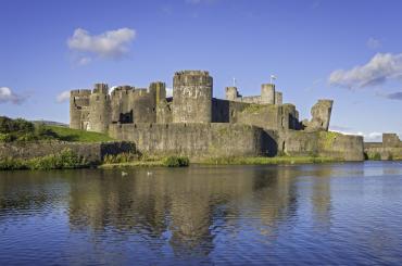
M 0 265 L 402 264 L 401 162 L 126 172 L 0 173 Z

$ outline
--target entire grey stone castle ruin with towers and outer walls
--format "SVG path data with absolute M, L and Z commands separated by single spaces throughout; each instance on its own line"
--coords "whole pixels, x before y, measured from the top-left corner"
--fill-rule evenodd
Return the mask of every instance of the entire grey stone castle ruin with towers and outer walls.
M 331 100 L 318 100 L 312 119 L 300 121 L 275 85 L 261 96 L 242 97 L 237 87 L 226 99 L 213 98 L 213 78 L 205 71 L 176 72 L 173 97 L 164 83 L 149 88 L 105 84 L 71 91 L 70 126 L 105 132 L 135 142 L 148 154 L 202 156 L 325 155 L 363 160 L 363 138 L 328 132 Z

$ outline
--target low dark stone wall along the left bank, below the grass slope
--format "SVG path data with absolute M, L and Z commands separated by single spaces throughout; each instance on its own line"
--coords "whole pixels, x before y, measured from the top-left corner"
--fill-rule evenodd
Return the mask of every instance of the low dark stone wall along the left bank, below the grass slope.
M 135 144 L 126 141 L 99 143 L 65 142 L 55 140 L 0 143 L 0 160 L 4 157 L 33 159 L 71 149 L 91 164 L 103 160 L 105 154 L 136 152 Z

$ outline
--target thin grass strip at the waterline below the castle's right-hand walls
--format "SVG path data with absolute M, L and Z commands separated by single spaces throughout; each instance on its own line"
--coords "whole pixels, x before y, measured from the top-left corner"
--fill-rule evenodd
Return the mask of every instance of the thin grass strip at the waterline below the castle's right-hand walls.
M 312 164 L 329 163 L 337 160 L 316 156 L 277 156 L 277 157 L 211 157 L 199 161 L 200 164 L 217 165 L 266 165 L 266 164 Z

